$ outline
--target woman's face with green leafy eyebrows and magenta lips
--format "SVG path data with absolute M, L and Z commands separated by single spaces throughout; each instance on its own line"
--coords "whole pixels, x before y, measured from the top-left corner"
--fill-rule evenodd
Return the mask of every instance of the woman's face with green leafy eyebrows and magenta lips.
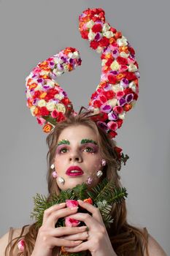
M 102 170 L 96 133 L 85 125 L 71 126 L 63 129 L 58 138 L 55 154 L 55 172 L 64 179 L 58 182 L 62 190 L 71 189 L 77 184 L 87 183 L 88 187 L 98 184 L 96 176 Z

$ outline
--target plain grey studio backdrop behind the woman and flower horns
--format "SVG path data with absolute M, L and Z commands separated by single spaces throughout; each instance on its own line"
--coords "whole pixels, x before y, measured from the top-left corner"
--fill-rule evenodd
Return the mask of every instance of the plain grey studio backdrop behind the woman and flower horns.
M 26 107 L 26 76 L 39 61 L 72 46 L 82 66 L 58 83 L 76 110 L 87 107 L 99 83 L 100 55 L 78 30 L 78 16 L 88 7 L 103 7 L 106 20 L 136 50 L 139 99 L 116 138 L 130 156 L 121 170 L 128 221 L 147 227 L 170 254 L 168 1 L 0 1 L 0 235 L 31 223 L 32 197 L 47 194 L 46 135 Z

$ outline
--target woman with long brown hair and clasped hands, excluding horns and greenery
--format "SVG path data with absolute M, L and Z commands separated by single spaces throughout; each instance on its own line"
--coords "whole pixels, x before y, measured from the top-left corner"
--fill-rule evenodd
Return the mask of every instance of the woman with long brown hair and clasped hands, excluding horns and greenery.
M 115 151 L 115 143 L 103 129 L 96 125 L 85 113 L 69 115 L 58 123 L 47 137 L 49 152 L 47 154 L 49 170 L 47 173 L 49 197 L 54 192 L 75 187 L 77 184 L 89 181 L 88 189 L 96 186 L 104 177 L 114 181 L 120 187 L 120 160 Z M 55 167 L 56 176 L 51 165 Z M 68 168 L 77 166 L 77 176 L 72 176 L 74 170 Z M 67 172 L 66 172 L 67 170 Z M 98 176 L 98 170 L 103 172 Z M 78 173 L 79 172 L 79 173 Z M 106 228 L 98 208 L 79 201 L 79 206 L 89 214 L 77 213 L 77 208 L 66 208 L 66 203 L 48 208 L 43 216 L 42 226 L 37 230 L 35 224 L 14 230 L 9 252 L 7 247 L 9 233 L 0 241 L 1 255 L 59 255 L 61 246 L 66 252 L 87 251 L 89 255 L 149 255 L 164 256 L 161 246 L 147 230 L 128 225 L 126 219 L 125 201 L 112 206 L 111 227 Z M 85 222 L 84 227 L 55 227 L 61 217 L 72 218 Z M 88 227 L 88 231 L 86 230 Z M 24 238 L 24 250 L 18 249 L 18 241 Z M 5 251 L 5 248 L 6 252 Z M 9 252 L 9 253 L 8 253 Z

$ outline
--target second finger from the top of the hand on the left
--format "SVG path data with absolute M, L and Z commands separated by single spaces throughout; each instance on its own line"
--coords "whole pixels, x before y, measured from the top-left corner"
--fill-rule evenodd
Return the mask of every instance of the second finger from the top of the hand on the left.
M 62 208 L 58 211 L 54 211 L 50 216 L 46 219 L 45 225 L 47 227 L 54 227 L 58 219 L 66 217 L 70 214 L 75 214 L 77 212 L 77 207 L 73 208 Z

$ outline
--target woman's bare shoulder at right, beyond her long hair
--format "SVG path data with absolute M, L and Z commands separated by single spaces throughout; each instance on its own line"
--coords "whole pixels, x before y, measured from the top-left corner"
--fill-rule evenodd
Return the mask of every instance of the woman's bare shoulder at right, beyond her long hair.
M 155 240 L 149 233 L 148 233 L 148 252 L 149 256 L 167 256 L 166 252 L 163 251 L 163 248 L 158 241 Z M 144 252 L 144 256 L 147 256 L 146 252 Z

